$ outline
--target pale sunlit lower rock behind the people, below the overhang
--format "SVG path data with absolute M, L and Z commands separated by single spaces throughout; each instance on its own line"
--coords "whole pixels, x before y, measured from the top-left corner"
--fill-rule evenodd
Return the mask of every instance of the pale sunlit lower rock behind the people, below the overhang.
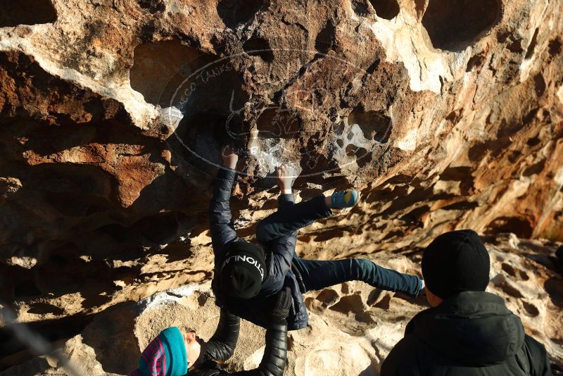
M 552 253 L 557 244 L 518 239 L 514 234 L 489 238 L 489 292 L 504 297 L 520 316 L 526 333 L 545 344 L 555 375 L 563 364 L 563 331 L 559 325 L 563 280 Z M 419 269 L 420 255 L 388 254 L 377 262 L 401 272 Z M 422 309 L 423 299 L 369 287 L 362 282 L 339 284 L 305 294 L 308 327 L 290 332 L 286 375 L 377 375 L 381 362 L 403 337 L 407 322 Z M 141 349 L 170 326 L 196 330 L 203 340 L 215 332 L 219 310 L 210 283 L 190 284 L 149 296 L 138 303 L 120 303 L 96 315 L 80 334 L 63 346 L 63 353 L 84 375 L 127 375 L 137 365 Z M 258 367 L 265 330 L 241 321 L 230 371 Z M 10 373 L 12 372 L 12 373 Z M 19 373 L 15 373 L 19 372 Z M 45 372 L 45 373 L 41 373 Z M 49 356 L 6 370 L 6 375 L 65 375 Z

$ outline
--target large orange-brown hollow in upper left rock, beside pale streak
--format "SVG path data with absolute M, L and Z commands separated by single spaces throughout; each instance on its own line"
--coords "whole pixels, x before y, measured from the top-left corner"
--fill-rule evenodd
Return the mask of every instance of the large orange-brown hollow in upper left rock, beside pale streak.
M 189 89 L 186 80 L 190 84 L 198 80 L 203 83 L 206 76 L 199 76 L 205 74 L 200 69 L 215 58 L 178 40 L 139 44 L 129 70 L 131 87 L 150 104 L 163 108 L 176 106 Z

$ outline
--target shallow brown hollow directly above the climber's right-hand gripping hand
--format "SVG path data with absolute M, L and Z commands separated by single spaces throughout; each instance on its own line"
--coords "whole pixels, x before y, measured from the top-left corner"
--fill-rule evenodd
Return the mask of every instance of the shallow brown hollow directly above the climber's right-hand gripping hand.
M 260 138 L 296 138 L 301 122 L 294 111 L 285 108 L 267 108 L 256 120 Z

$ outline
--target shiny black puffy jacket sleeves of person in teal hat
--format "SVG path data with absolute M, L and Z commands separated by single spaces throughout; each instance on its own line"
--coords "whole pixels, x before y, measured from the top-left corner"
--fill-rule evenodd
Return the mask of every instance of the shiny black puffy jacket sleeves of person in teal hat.
M 222 370 L 216 361 L 227 361 L 234 352 L 236 341 L 239 339 L 240 319 L 221 310 L 219 325 L 213 337 L 205 344 L 201 363 L 196 363 L 188 375 L 218 376 L 218 375 L 244 375 L 244 376 L 281 376 L 284 374 L 287 357 L 287 324 L 276 323 L 266 330 L 266 349 L 258 368 L 254 370 L 239 371 L 229 374 Z

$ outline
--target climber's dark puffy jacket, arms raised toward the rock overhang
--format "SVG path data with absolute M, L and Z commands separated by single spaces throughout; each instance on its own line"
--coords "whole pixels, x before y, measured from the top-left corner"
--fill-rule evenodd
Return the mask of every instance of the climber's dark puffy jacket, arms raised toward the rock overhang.
M 211 287 L 215 294 L 215 303 L 234 315 L 267 328 L 267 317 L 270 314 L 270 298 L 284 287 L 291 290 L 292 304 L 287 317 L 288 330 L 298 330 L 307 326 L 309 320 L 307 308 L 303 301 L 301 289 L 303 282 L 291 269 L 295 252 L 295 237 L 284 237 L 276 246 L 268 249 L 266 257 L 266 277 L 258 296 L 251 299 L 232 299 L 221 291 L 220 270 L 224 256 L 233 242 L 245 242 L 236 236 L 232 220 L 229 199 L 236 177 L 236 171 L 220 168 L 217 173 L 213 198 L 209 205 L 209 222 L 213 253 L 215 256 L 215 272 Z M 301 287 L 301 289 L 300 289 Z

